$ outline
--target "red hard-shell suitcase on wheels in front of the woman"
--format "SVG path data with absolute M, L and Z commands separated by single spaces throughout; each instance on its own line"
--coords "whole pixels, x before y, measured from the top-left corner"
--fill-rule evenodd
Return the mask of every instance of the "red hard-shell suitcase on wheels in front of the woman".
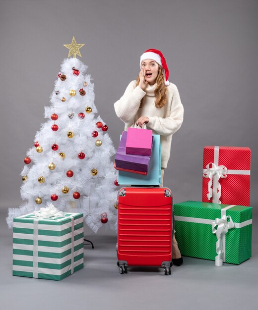
M 168 188 L 126 187 L 119 191 L 120 273 L 127 273 L 127 266 L 160 266 L 165 274 L 171 274 L 173 215 Z

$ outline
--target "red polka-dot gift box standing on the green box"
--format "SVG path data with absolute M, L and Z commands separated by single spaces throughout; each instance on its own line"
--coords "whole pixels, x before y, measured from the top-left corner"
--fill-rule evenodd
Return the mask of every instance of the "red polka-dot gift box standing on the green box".
M 249 148 L 204 147 L 202 201 L 250 206 L 250 166 Z

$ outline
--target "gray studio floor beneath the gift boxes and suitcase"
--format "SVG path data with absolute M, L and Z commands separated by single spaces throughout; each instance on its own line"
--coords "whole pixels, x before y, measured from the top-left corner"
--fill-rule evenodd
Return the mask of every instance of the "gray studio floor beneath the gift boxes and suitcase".
M 161 268 L 117 267 L 115 233 L 89 234 L 84 269 L 61 282 L 12 276 L 12 231 L 0 212 L 0 309 L 255 309 L 258 302 L 258 229 L 253 228 L 253 257 L 241 265 L 184 258 L 165 276 Z M 255 241 L 255 242 L 254 242 Z

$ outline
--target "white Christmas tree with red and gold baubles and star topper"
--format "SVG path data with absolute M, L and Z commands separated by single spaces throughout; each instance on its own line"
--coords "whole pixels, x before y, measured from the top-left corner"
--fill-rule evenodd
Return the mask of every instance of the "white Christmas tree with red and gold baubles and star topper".
M 68 58 L 45 106 L 48 121 L 36 133 L 21 172 L 21 197 L 26 202 L 10 208 L 13 218 L 51 203 L 65 212 L 81 212 L 96 232 L 103 224 L 117 229 L 117 171 L 113 167 L 113 142 L 94 104 L 94 84 L 73 37 Z M 70 57 L 73 56 L 73 57 Z M 115 206 L 115 207 L 114 207 Z

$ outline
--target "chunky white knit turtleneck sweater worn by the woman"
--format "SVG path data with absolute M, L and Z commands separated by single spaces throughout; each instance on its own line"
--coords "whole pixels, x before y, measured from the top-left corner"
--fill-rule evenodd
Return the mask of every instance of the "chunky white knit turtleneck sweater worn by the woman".
M 141 116 L 147 116 L 147 129 L 153 134 L 160 135 L 161 167 L 166 168 L 170 157 L 172 135 L 181 127 L 184 116 L 184 107 L 181 103 L 178 89 L 175 84 L 167 86 L 167 102 L 162 108 L 155 106 L 154 91 L 156 84 L 148 85 L 145 91 L 131 81 L 125 94 L 115 104 L 117 116 L 125 123 L 125 130 L 133 127 Z M 142 107 L 140 101 L 143 98 Z

